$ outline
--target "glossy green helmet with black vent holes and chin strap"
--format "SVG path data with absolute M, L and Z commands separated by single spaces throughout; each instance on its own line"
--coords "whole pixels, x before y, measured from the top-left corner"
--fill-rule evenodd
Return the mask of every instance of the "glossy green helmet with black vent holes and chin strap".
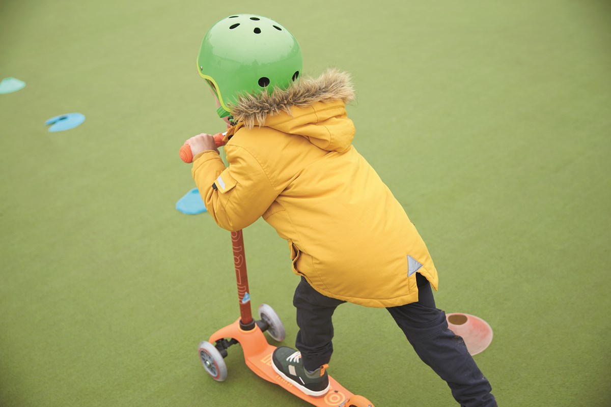
M 269 18 L 236 14 L 215 23 L 202 40 L 197 71 L 230 114 L 239 95 L 285 89 L 302 70 L 301 48 L 293 34 Z

